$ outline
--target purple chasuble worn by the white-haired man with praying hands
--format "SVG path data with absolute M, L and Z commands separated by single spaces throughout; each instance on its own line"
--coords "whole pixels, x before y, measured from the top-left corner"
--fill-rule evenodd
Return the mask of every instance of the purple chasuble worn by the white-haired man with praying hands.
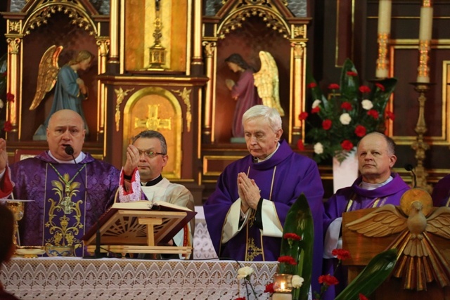
M 250 257 L 254 256 L 255 252 L 251 252 L 255 247 L 263 249 L 265 261 L 276 261 L 280 255 L 281 237 L 261 237 L 259 228 L 252 222 L 248 222 L 231 240 L 221 244 L 226 215 L 231 204 L 239 198 L 237 178 L 240 172 L 245 172 L 249 178 L 255 180 L 261 189 L 261 197 L 274 202 L 276 214 L 282 225 L 297 197 L 302 193 L 307 197 L 314 219 L 316 237 L 312 258 L 313 278 L 318 278 L 321 273 L 323 252 L 323 185 L 316 162 L 293 152 L 286 141 L 282 141 L 278 150 L 266 161 L 254 163 L 252 155 L 248 155 L 229 164 L 219 176 L 216 190 L 204 204 L 207 228 L 217 255 L 244 261 L 248 246 L 252 246 L 247 250 Z M 255 256 L 253 260 L 262 261 L 262 254 Z M 319 286 L 314 279 L 313 284 L 316 284 L 315 287 Z

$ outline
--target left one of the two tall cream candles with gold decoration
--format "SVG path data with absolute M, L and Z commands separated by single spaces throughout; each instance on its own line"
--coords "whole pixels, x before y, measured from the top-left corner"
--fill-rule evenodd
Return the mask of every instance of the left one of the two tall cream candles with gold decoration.
M 380 0 L 378 5 L 378 60 L 375 76 L 386 78 L 388 76 L 387 43 L 391 31 L 392 0 Z

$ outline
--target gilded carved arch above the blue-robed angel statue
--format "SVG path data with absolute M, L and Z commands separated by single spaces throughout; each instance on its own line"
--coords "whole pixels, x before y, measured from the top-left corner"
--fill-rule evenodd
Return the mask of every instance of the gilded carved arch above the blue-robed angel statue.
M 72 19 L 72 25 L 83 28 L 91 35 L 98 35 L 94 21 L 86 11 L 86 8 L 78 1 L 49 1 L 38 4 L 30 16 L 25 20 L 22 31 L 24 36 L 30 34 L 30 30 L 47 23 L 51 15 L 56 12 L 63 12 Z

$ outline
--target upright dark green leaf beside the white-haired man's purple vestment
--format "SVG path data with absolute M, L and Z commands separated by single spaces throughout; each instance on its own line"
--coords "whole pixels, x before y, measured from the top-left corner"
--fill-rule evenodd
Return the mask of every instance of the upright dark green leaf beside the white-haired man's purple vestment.
M 314 223 L 311 209 L 309 209 L 309 204 L 304 194 L 297 198 L 288 211 L 284 222 L 283 235 L 285 233 L 295 233 L 302 237 L 302 240 L 293 241 L 292 246 L 289 245 L 288 240 L 284 238 L 281 240 L 280 256 L 292 256 L 297 261 L 297 266 L 294 272 L 289 272 L 290 266 L 280 263 L 279 273 L 296 274 L 302 277 L 304 279 L 302 287 L 304 288 L 293 289 L 293 299 L 307 300 L 312 276 Z

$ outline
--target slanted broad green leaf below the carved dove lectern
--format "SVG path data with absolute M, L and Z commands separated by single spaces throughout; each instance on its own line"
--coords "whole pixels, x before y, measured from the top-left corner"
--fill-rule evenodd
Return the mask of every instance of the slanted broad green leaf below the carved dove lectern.
M 365 296 L 372 294 L 390 275 L 396 262 L 397 249 L 376 255 L 335 300 L 358 300 L 359 293 Z

